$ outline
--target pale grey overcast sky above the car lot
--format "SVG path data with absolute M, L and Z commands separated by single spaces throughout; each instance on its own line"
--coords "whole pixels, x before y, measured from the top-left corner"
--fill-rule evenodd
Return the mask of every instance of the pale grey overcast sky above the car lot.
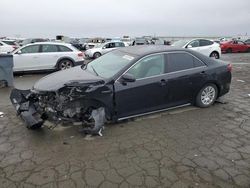
M 250 35 L 250 0 L 0 0 L 0 37 Z

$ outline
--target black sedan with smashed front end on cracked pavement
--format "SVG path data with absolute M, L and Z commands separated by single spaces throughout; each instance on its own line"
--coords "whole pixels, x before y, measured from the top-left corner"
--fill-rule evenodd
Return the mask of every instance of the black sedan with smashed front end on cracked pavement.
M 14 89 L 10 98 L 28 128 L 45 120 L 83 122 L 86 133 L 101 134 L 105 121 L 192 104 L 209 107 L 229 92 L 231 69 L 188 49 L 133 46 L 50 74 L 31 90 Z

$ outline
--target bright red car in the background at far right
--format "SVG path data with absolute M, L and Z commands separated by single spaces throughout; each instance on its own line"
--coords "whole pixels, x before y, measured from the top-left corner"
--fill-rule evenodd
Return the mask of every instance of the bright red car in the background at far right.
M 226 41 L 220 43 L 221 52 L 223 53 L 232 53 L 232 52 L 250 52 L 250 45 L 242 41 Z

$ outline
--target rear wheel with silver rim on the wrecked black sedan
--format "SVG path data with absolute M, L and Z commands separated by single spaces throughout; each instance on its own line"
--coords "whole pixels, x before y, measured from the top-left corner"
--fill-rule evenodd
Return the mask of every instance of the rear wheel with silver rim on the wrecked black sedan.
M 218 88 L 215 84 L 206 84 L 196 96 L 196 105 L 201 108 L 211 106 L 218 96 Z

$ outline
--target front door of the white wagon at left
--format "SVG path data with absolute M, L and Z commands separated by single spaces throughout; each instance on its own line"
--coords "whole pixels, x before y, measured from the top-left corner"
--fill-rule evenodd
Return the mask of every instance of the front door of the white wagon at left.
M 14 71 L 38 70 L 40 45 L 22 47 L 13 55 Z

